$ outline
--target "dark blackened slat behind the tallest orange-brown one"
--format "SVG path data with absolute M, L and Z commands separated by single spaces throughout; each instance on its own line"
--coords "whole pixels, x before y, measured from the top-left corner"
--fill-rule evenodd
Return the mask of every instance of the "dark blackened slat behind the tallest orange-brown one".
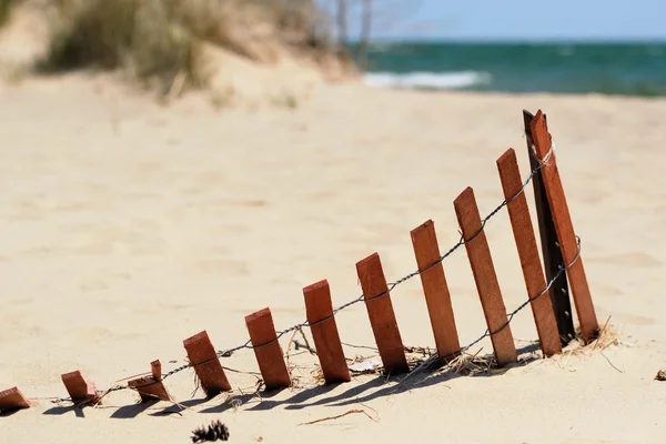
M 534 139 L 532 138 L 532 121 L 534 115 L 526 110 L 523 110 L 523 120 L 525 124 L 525 141 L 527 144 L 527 155 L 529 158 L 529 168 L 534 171 L 538 167 L 538 160 L 534 152 Z M 547 122 L 546 114 L 544 120 Z M 534 189 L 534 203 L 536 216 L 538 221 L 538 232 L 541 238 L 542 254 L 544 258 L 544 268 L 546 271 L 547 282 L 553 282 L 551 285 L 551 301 L 555 311 L 555 320 L 557 321 L 557 331 L 562 345 L 567 345 L 575 336 L 574 316 L 572 311 L 572 301 L 569 299 L 568 285 L 566 283 L 566 272 L 561 273 L 559 265 L 564 264 L 562 251 L 559 251 L 559 241 L 557 240 L 557 231 L 553 214 L 548 205 L 548 195 L 544 186 L 542 171 L 538 170 L 532 178 Z M 557 279 L 555 279 L 557 276 Z

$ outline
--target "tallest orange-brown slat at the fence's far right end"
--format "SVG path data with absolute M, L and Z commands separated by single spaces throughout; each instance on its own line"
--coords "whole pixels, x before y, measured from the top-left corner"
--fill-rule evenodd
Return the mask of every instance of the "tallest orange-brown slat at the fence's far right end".
M 543 162 L 551 152 L 552 142 L 546 121 L 541 110 L 532 121 L 532 137 L 534 138 L 534 147 L 536 154 L 539 158 L 539 162 Z M 553 212 L 555 229 L 557 230 L 557 239 L 559 239 L 559 249 L 562 250 L 565 264 L 568 265 L 578 255 L 578 245 L 568 205 L 566 203 L 566 196 L 564 194 L 564 186 L 562 185 L 559 171 L 557 170 L 555 153 L 549 154 L 549 159 L 547 159 L 546 164 L 541 171 L 543 172 L 548 203 L 551 205 L 551 211 Z M 599 325 L 592 302 L 592 295 L 585 275 L 585 268 L 583 266 L 583 258 L 578 258 L 578 260 L 568 269 L 567 274 L 572 294 L 574 296 L 574 304 L 576 305 L 576 312 L 578 314 L 578 322 L 581 323 L 583 341 L 588 343 L 597 336 Z

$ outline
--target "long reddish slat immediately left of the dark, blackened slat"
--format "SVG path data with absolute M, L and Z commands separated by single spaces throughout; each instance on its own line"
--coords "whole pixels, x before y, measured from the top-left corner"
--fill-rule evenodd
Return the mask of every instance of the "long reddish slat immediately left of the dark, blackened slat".
M 516 152 L 513 149 L 508 149 L 497 160 L 497 170 L 504 190 L 504 199 L 508 202 L 508 216 L 518 250 L 518 258 L 521 259 L 527 295 L 532 300 L 546 289 L 546 280 L 538 259 L 538 248 L 536 246 L 534 226 L 529 218 L 527 199 L 525 193 L 521 192 L 523 189 L 521 170 L 518 169 Z M 561 353 L 562 344 L 549 294 L 543 294 L 532 301 L 531 305 L 544 355 L 552 356 Z

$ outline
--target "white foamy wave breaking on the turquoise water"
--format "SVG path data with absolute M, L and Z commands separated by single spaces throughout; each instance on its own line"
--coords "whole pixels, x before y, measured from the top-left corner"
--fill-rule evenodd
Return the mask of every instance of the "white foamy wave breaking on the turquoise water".
M 487 72 L 410 72 L 396 74 L 392 72 L 367 72 L 365 84 L 371 88 L 407 88 L 455 90 L 476 84 L 488 84 L 493 78 Z

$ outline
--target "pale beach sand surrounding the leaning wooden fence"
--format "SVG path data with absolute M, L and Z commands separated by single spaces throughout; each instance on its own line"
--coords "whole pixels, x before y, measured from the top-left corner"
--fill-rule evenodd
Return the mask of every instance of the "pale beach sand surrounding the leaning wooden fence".
M 493 376 L 363 375 L 316 387 L 303 350 L 297 389 L 192 398 L 193 372 L 165 380 L 180 411 L 130 391 L 97 408 L 52 397 L 80 370 L 100 390 L 184 362 L 182 341 L 248 340 L 270 306 L 279 330 L 304 321 L 302 289 L 357 297 L 355 263 L 379 252 L 389 281 L 416 269 L 410 230 L 433 219 L 442 251 L 458 240 L 453 200 L 474 188 L 482 214 L 503 194 L 509 147 L 528 173 L 522 110 L 548 115 L 601 324 L 619 346 L 536 360 Z M 322 87 L 295 109 L 220 109 L 196 95 L 161 107 L 104 78 L 72 74 L 0 89 L 0 389 L 33 407 L 0 417 L 0 442 L 184 443 L 224 422 L 231 442 L 659 443 L 666 434 L 665 100 L 420 93 Z M 532 189 L 528 202 L 534 208 Z M 507 310 L 526 299 L 502 211 L 487 236 Z M 444 263 L 461 342 L 485 330 L 467 256 Z M 421 282 L 392 294 L 407 345 L 433 346 Z M 342 341 L 374 346 L 365 309 L 337 316 Z M 529 309 L 516 344 L 537 339 Z M 310 333 L 306 331 L 310 336 Z M 289 337 L 282 337 L 286 349 Z M 474 352 L 492 351 L 484 341 Z M 345 347 L 347 357 L 376 354 Z M 256 372 L 250 350 L 223 364 Z M 249 393 L 249 394 L 248 394 Z M 299 425 L 350 410 L 367 412 Z M 179 412 L 180 411 L 180 412 Z M 179 413 L 175 413 L 179 412 Z

